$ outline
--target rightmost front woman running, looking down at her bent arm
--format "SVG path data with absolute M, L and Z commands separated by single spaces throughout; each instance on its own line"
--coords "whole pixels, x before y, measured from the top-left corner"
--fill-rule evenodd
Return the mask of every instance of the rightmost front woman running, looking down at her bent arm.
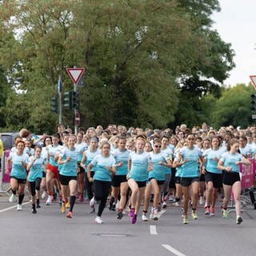
M 227 144 L 227 152 L 222 154 L 222 157 L 218 161 L 218 170 L 224 170 L 223 174 L 223 213 L 222 218 L 229 218 L 227 211 L 227 204 L 230 202 L 231 190 L 234 194 L 235 210 L 236 210 L 236 223 L 242 223 L 241 217 L 241 181 L 239 175 L 239 166 L 241 164 L 250 166 L 250 160 L 242 157 L 242 154 L 238 154 L 239 142 L 235 138 L 231 138 Z

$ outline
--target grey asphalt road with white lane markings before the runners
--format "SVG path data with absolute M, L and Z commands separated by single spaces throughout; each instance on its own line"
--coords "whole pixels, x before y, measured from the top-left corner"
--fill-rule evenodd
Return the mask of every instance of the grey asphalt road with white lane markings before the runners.
M 8 197 L 0 197 L 0 255 L 254 255 L 256 238 L 256 210 L 253 207 L 242 214 L 244 222 L 235 224 L 235 214 L 223 219 L 221 209 L 214 217 L 206 216 L 202 206 L 198 219 L 189 218 L 182 224 L 181 209 L 168 206 L 158 221 L 134 225 L 127 216 L 122 220 L 106 208 L 103 224 L 94 222 L 88 214 L 87 203 L 76 203 L 74 217 L 66 218 L 58 203 L 31 213 L 29 198 L 25 198 L 22 211 Z

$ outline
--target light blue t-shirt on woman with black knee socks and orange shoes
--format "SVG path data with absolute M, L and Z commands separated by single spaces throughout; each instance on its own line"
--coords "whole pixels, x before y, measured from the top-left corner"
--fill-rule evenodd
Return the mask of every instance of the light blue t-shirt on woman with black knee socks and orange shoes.
M 59 170 L 59 173 L 65 176 L 77 176 L 78 151 L 75 147 L 73 150 L 64 147 L 59 156 L 63 161 L 65 161 L 66 158 L 70 158 L 70 161 L 62 164 L 62 168 Z

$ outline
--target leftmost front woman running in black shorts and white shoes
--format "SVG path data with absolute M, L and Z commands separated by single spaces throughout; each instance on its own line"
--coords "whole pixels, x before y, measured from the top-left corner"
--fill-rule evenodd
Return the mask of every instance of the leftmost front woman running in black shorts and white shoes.
M 12 164 L 10 172 L 10 188 L 12 194 L 9 198 L 9 202 L 14 202 L 14 197 L 18 191 L 18 206 L 17 210 L 22 210 L 22 201 L 24 198 L 24 190 L 26 185 L 26 163 L 29 155 L 24 152 L 25 143 L 22 141 L 16 142 L 16 150 L 11 153 L 8 160 L 7 166 Z M 6 170 L 8 174 L 8 170 Z

